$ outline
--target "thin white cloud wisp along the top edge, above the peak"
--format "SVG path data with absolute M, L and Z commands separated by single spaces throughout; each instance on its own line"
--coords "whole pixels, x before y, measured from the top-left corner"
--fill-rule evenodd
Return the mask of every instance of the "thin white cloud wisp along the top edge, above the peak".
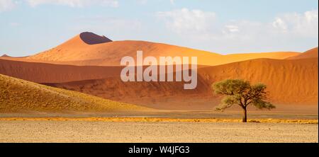
M 118 7 L 117 0 L 26 0 L 30 6 L 39 6 L 42 4 L 54 4 L 71 7 L 84 7 L 92 5 L 102 5 Z

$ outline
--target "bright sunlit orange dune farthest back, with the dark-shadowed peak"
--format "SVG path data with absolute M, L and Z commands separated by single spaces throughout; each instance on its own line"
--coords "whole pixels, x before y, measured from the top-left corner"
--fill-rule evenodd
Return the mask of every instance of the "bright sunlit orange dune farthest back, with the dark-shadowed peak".
M 90 44 L 87 44 L 88 40 L 90 41 Z M 39 54 L 26 57 L 26 59 L 31 59 L 33 62 L 55 62 L 55 64 L 118 66 L 122 57 L 136 57 L 136 52 L 138 50 L 142 50 L 145 57 L 152 56 L 158 58 L 167 56 L 196 56 L 198 57 L 198 64 L 210 66 L 257 58 L 286 59 L 299 54 L 297 52 L 271 52 L 220 55 L 212 52 L 155 42 L 111 42 L 111 40 L 108 40 L 107 38 L 101 42 L 101 36 L 99 35 L 94 35 L 93 33 L 81 33 L 62 45 Z

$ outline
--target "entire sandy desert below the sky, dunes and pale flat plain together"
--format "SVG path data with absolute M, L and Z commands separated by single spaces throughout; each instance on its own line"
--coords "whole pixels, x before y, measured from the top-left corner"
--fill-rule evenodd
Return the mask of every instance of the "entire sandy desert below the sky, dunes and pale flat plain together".
M 144 57 L 197 56 L 198 88 L 123 83 L 120 60 L 137 50 Z M 247 124 L 236 107 L 213 112 L 220 96 L 212 95 L 211 84 L 223 79 L 266 83 L 277 109 L 249 108 Z M 0 57 L 0 112 L 0 142 L 318 143 L 318 48 L 221 55 L 81 33 L 30 57 Z

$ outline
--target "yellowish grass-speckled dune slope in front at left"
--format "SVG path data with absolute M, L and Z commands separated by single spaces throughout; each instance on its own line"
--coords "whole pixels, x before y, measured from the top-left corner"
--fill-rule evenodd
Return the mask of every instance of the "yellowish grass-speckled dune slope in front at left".
M 121 112 L 147 110 L 0 74 L 0 112 Z

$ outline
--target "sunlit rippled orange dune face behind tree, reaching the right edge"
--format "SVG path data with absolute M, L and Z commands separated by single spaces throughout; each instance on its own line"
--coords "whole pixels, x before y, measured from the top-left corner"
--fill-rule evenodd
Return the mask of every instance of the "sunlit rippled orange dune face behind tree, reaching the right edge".
M 223 79 L 265 83 L 274 103 L 318 105 L 318 58 L 255 59 L 203 68 L 198 73 L 211 83 Z

